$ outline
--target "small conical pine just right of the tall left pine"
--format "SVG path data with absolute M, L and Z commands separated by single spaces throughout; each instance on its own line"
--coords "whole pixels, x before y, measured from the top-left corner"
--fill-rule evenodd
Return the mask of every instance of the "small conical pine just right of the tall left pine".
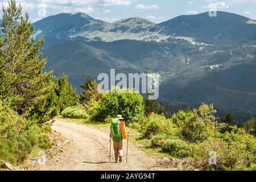
M 63 111 L 66 107 L 74 106 L 79 102 L 79 95 L 76 93 L 76 89 L 73 89 L 72 85 L 68 82 L 68 76 L 63 75 L 56 82 L 55 92 L 59 97 L 58 105 L 60 111 Z

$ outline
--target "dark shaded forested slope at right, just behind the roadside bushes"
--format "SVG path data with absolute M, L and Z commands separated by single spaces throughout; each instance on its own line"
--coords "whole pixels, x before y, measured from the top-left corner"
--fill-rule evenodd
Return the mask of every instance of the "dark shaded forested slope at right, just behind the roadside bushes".
M 226 68 L 183 73 L 165 81 L 160 89 L 168 90 L 162 97 L 182 104 L 214 103 L 224 109 L 240 108 L 256 112 L 256 60 Z

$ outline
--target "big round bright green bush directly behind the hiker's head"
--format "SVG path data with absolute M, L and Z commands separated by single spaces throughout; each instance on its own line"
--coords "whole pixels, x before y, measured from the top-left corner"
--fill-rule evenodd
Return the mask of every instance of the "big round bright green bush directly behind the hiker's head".
M 118 87 L 102 94 L 100 101 L 94 101 L 89 108 L 89 115 L 93 121 L 104 122 L 109 116 L 114 118 L 122 114 L 126 123 L 139 122 L 144 114 L 143 97 L 135 90 L 120 89 Z

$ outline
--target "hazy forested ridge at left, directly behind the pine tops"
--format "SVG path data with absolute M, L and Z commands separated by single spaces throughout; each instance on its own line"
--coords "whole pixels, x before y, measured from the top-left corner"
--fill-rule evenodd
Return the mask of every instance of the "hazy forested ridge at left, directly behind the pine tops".
M 71 84 L 79 91 L 79 85 L 84 83 L 88 75 L 97 78 L 100 73 L 109 74 L 111 68 L 121 73 L 139 72 L 138 68 L 121 56 L 81 41 L 53 46 L 46 49 L 44 55 L 48 57 L 46 70 L 53 70 L 57 77 L 66 73 Z

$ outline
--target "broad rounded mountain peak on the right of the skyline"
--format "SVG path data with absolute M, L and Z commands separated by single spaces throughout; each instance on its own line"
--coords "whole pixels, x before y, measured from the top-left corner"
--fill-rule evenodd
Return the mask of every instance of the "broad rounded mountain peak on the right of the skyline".
M 216 17 L 210 17 L 208 12 L 177 16 L 156 25 L 151 31 L 195 38 L 196 42 L 206 44 L 249 44 L 256 40 L 256 24 L 250 23 L 249 18 L 222 11 L 217 11 Z

